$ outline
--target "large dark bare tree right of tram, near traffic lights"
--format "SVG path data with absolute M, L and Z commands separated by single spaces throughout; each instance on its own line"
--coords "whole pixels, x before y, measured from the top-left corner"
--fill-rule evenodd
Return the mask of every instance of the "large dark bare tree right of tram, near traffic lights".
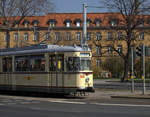
M 113 39 L 112 49 L 123 58 L 124 75 L 121 79 L 123 82 L 127 78 L 130 62 L 130 49 L 135 46 L 137 38 L 135 33 L 139 31 L 142 20 L 145 19 L 144 14 L 150 11 L 150 0 L 101 0 L 106 7 L 112 12 L 119 12 L 119 23 L 117 27 L 110 27 L 113 31 L 122 31 L 122 41 L 124 42 L 124 52 L 120 52 L 115 48 L 118 38 Z

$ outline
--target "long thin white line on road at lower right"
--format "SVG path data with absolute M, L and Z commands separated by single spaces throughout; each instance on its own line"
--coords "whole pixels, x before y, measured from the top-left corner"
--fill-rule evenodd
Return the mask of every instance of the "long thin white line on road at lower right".
M 136 105 L 136 104 L 108 104 L 108 103 L 90 103 L 100 106 L 123 106 L 123 107 L 148 107 L 150 108 L 150 105 Z

